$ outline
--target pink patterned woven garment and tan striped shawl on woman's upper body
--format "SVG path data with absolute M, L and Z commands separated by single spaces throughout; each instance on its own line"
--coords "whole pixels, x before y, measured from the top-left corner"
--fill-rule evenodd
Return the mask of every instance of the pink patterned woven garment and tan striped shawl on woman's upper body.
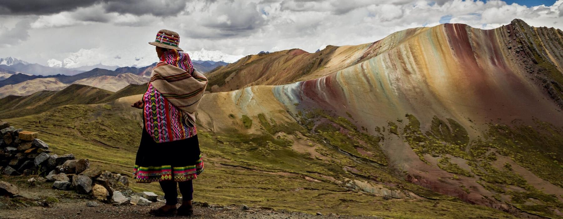
M 196 135 L 194 112 L 207 82 L 187 53 L 169 50 L 162 55 L 143 96 L 145 128 L 155 142 Z

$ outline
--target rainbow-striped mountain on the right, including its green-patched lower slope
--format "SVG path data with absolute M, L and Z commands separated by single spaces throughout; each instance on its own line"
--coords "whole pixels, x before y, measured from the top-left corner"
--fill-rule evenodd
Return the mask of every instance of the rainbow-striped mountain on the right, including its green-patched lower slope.
M 562 206 L 558 195 L 563 191 L 557 180 L 563 175 L 556 146 L 563 144 L 563 92 L 558 82 L 563 63 L 561 30 L 533 28 L 515 20 L 493 30 L 444 24 L 393 35 L 402 41 L 393 44 L 382 39 L 364 51 L 360 59 L 364 61 L 324 77 L 275 86 L 274 95 L 292 114 L 333 111 L 372 135 L 386 127 L 381 145 L 390 167 L 406 169 L 405 178 L 414 184 L 507 212 L 560 216 L 555 209 Z M 403 123 L 405 114 L 415 118 L 416 131 L 410 122 Z M 549 127 L 543 122 L 550 123 Z M 461 129 L 467 140 L 444 137 Z M 498 133 L 511 135 L 499 137 Z M 477 156 L 475 148 L 490 157 Z M 511 157 L 535 176 L 493 168 L 490 162 L 497 153 Z M 446 160 L 450 157 L 452 162 Z M 544 190 L 528 180 L 520 185 L 508 178 L 499 180 L 503 174 L 531 177 L 530 181 L 541 178 L 558 189 Z M 502 189 L 503 185 L 515 187 Z M 531 199 L 538 200 L 543 209 L 534 210 L 515 195 L 519 188 L 525 188 L 526 194 L 540 190 L 552 194 L 553 203 L 536 196 Z M 506 194 L 511 197 L 501 198 Z

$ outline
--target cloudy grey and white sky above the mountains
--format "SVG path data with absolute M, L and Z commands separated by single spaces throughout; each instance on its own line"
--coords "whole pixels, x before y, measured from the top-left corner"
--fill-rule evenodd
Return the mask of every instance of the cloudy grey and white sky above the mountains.
M 159 29 L 180 33 L 180 47 L 231 55 L 377 41 L 440 23 L 492 29 L 519 18 L 563 29 L 563 0 L 2 0 L 0 57 L 47 65 L 148 65 Z

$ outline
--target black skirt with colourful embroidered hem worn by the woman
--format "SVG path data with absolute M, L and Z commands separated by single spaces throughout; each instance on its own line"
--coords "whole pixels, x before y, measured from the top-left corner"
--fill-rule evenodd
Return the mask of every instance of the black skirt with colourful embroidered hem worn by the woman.
M 137 182 L 182 182 L 197 178 L 202 171 L 203 159 L 197 135 L 157 143 L 143 128 L 133 169 L 133 177 Z

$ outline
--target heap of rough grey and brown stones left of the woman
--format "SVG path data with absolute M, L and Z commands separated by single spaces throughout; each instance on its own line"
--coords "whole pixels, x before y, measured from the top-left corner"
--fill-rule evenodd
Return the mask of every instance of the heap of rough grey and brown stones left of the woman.
M 52 182 L 53 189 L 75 190 L 114 205 L 149 205 L 164 199 L 151 192 L 133 194 L 127 176 L 90 167 L 88 159 L 52 153 L 49 145 L 37 138 L 37 132 L 15 129 L 2 121 L 0 132 L 0 172 L 4 175 L 38 175 L 40 181 Z M 33 177 L 28 182 L 34 184 L 35 181 Z M 15 195 L 8 193 L 10 186 L 6 182 L 2 183 L 6 185 L 0 184 L 0 193 L 5 194 L 0 195 Z

